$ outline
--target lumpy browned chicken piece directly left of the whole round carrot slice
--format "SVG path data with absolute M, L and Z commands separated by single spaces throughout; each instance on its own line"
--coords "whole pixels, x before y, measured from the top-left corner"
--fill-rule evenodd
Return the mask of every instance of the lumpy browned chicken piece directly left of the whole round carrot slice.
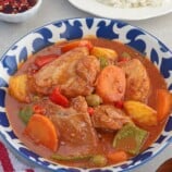
M 62 94 L 66 97 L 90 95 L 100 71 L 100 63 L 97 58 L 94 56 L 83 57 L 76 62 L 73 70 L 73 73 L 69 73 L 69 79 L 60 85 Z

